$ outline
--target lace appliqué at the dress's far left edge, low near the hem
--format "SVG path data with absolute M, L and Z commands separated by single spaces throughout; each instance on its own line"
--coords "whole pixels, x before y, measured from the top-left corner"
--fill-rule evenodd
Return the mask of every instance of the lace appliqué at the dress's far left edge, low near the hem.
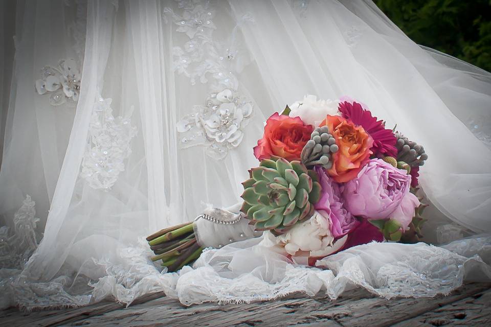
M 36 234 L 36 203 L 29 195 L 14 214 L 14 230 L 9 235 L 9 227 L 0 228 L 0 267 L 21 269 L 29 260 L 38 245 Z

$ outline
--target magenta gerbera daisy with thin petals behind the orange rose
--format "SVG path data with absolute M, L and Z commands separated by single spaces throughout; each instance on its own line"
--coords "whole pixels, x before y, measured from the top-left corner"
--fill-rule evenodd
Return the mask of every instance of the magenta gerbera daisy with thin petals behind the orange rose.
M 377 121 L 369 110 L 363 109 L 358 102 L 340 102 L 339 111 L 355 125 L 362 126 L 363 129 L 373 138 L 373 146 L 371 148 L 376 157 L 397 156 L 395 143 L 397 139 L 390 129 L 385 128 L 384 121 Z

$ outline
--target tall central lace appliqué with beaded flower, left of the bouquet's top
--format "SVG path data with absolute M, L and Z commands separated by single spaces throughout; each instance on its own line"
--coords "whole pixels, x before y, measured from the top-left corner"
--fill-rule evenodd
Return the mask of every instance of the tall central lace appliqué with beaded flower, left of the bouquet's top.
M 164 9 L 177 26 L 176 31 L 190 39 L 183 47 L 173 48 L 174 70 L 189 77 L 191 85 L 197 80 L 210 83 L 205 105 L 195 105 L 194 113 L 177 122 L 177 132 L 183 134 L 182 148 L 203 145 L 209 156 L 223 159 L 229 150 L 239 146 L 243 129 L 253 113 L 252 102 L 238 92 L 236 77 L 250 58 L 241 47 L 237 27 L 228 40 L 213 39 L 215 12 L 208 3 L 197 3 L 196 0 L 178 1 L 177 7 L 184 9 L 182 15 Z

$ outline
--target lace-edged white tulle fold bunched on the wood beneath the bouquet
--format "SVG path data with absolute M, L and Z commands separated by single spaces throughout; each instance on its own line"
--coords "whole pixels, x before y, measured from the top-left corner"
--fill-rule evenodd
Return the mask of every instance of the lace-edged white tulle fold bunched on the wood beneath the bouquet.
M 481 237 L 443 247 L 371 243 L 327 256 L 317 262 L 324 269 L 318 269 L 288 263 L 261 237 L 205 252 L 194 269 L 181 271 L 176 291 L 185 305 L 269 300 L 293 293 L 324 292 L 335 299 L 356 287 L 388 299 L 432 297 L 449 294 L 464 281 L 489 281 L 490 241 Z

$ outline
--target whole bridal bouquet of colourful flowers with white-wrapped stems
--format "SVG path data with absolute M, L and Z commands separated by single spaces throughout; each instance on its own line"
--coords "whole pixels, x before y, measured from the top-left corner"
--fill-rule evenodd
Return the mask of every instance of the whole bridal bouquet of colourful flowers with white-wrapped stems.
M 421 237 L 425 205 L 415 193 L 428 155 L 362 103 L 306 96 L 267 119 L 254 155 L 259 165 L 242 183 L 240 212 L 209 208 L 203 219 L 155 233 L 147 238 L 152 260 L 178 270 L 204 247 L 222 246 L 206 240 L 237 241 L 236 229 L 310 266 L 351 246 Z

